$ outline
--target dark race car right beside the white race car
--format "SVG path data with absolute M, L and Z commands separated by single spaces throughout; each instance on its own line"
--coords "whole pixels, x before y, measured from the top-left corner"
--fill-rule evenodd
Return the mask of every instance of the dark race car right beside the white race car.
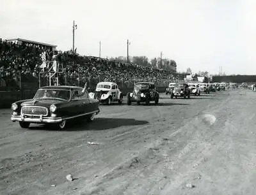
M 133 91 L 127 93 L 127 105 L 131 105 L 132 102 L 136 102 L 138 105 L 140 103 L 149 105 L 150 101 L 154 101 L 156 104 L 159 102 L 159 93 L 154 83 L 135 83 Z

